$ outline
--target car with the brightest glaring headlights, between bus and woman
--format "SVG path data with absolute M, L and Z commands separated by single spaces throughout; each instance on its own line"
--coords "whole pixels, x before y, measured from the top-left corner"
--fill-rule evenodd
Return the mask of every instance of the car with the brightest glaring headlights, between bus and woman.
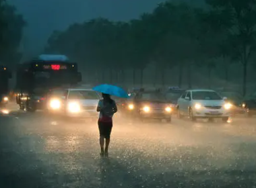
M 100 99 L 92 89 L 54 89 L 46 97 L 46 109 L 69 118 L 96 118 Z

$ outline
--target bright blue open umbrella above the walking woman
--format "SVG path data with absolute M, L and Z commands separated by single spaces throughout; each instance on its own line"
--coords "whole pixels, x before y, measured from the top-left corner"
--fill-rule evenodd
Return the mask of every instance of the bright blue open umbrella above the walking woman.
M 96 87 L 92 88 L 94 91 L 98 91 L 100 93 L 106 93 L 108 95 L 114 95 L 121 98 L 128 98 L 127 92 L 122 89 L 121 87 L 117 87 L 115 85 L 108 85 L 108 84 L 102 84 L 97 85 Z

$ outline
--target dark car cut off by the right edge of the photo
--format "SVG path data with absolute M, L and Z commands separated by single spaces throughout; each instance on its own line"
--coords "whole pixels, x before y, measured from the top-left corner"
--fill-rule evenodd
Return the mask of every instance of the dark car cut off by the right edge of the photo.
M 248 117 L 256 115 L 256 93 L 245 97 L 242 103 Z

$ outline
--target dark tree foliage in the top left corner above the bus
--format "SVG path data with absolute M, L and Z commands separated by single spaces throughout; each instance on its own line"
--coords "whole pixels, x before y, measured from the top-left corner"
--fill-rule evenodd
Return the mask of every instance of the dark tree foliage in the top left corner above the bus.
M 14 68 L 22 58 L 20 41 L 26 21 L 7 0 L 0 0 L 0 64 Z

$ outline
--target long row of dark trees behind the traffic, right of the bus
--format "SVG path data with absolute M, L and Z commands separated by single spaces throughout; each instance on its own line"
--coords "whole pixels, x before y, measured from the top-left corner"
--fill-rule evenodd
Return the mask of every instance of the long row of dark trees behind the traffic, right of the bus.
M 225 79 L 232 63 L 243 69 L 246 94 L 248 66 L 255 59 L 256 0 L 205 0 L 202 7 L 186 3 L 160 3 L 152 13 L 130 21 L 110 21 L 102 17 L 75 23 L 63 32 L 55 31 L 46 52 L 66 54 L 79 62 L 87 75 L 123 81 L 125 70 L 143 71 L 150 63 L 162 70 L 179 67 L 179 85 L 184 68 L 205 66 L 208 75 L 218 64 Z M 191 71 L 186 75 L 191 81 Z M 189 83 L 191 87 L 192 83 Z

